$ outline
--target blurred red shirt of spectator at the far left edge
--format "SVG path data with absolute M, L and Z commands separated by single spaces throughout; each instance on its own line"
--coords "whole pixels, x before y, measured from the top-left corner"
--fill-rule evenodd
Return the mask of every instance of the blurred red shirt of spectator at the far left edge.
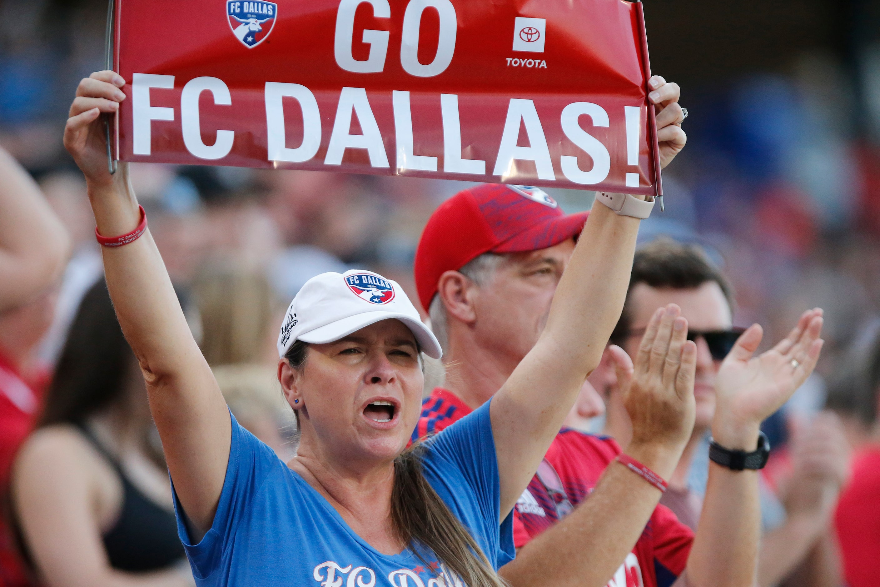
M 37 395 L 0 356 L 0 495 L 8 489 L 12 460 L 24 442 L 37 411 Z M 0 517 L 0 584 L 29 584 L 18 561 L 11 535 Z

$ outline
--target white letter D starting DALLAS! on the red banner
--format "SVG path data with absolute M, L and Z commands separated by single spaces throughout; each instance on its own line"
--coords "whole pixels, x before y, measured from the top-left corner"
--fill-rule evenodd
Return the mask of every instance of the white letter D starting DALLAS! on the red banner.
M 284 97 L 296 99 L 303 111 L 303 142 L 287 147 L 284 132 Z M 266 134 L 269 161 L 308 161 L 321 146 L 321 115 L 314 94 L 300 84 L 266 82 Z

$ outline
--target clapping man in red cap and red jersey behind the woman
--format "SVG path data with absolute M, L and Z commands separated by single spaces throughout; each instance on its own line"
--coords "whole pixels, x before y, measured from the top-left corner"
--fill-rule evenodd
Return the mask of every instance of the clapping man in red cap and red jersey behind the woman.
M 568 271 L 582 223 L 583 215 L 567 216 L 549 194 L 526 186 L 471 187 L 436 209 L 416 250 L 414 276 L 431 328 L 444 346 L 447 372 L 443 386 L 423 403 L 413 440 L 442 435 L 479 411 L 518 369 L 517 363 L 539 341 L 551 301 L 556 303 L 554 294 Z M 664 305 L 655 311 L 658 307 Z M 680 312 L 675 305 L 665 307 Z M 730 312 L 726 323 L 698 322 L 700 337 L 689 344 L 697 349 L 707 331 L 726 330 L 729 320 Z M 730 424 L 727 430 L 718 429 L 719 444 L 757 451 L 758 422 L 809 374 L 803 361 L 791 363 L 788 353 L 818 335 L 821 321 L 820 312 L 805 312 L 777 347 L 788 345 L 786 349 L 753 359 L 760 328 L 744 333 L 733 353 L 736 360 L 726 364 L 728 372 L 749 377 L 727 390 L 739 417 L 725 422 Z M 685 323 L 680 319 L 680 325 Z M 647 326 L 649 320 L 634 324 Z M 644 345 L 651 332 L 642 328 L 632 338 Z M 732 337 L 708 338 L 713 345 L 729 345 Z M 638 346 L 631 352 L 632 359 L 615 347 L 609 351 L 614 360 L 606 363 L 617 363 L 620 377 L 633 382 L 620 385 L 626 388 L 621 409 L 627 423 L 633 422 L 627 430 L 632 441 L 617 444 L 610 437 L 561 429 L 517 501 L 517 558 L 502 567 L 501 575 L 512 587 L 670 587 L 682 576 L 692 587 L 751 587 L 759 539 L 754 471 L 715 468 L 707 498 L 713 514 L 694 536 L 671 510 L 658 506 L 663 479 L 646 483 L 633 474 L 643 468 L 623 464 L 627 458 L 638 459 L 668 479 L 693 429 L 693 395 L 685 419 L 671 409 L 677 396 L 665 387 L 668 378 L 651 378 L 646 352 Z M 776 376 L 779 385 L 766 385 Z M 578 402 L 590 394 L 596 392 L 587 383 Z M 734 421 L 749 422 L 741 436 L 730 436 L 730 428 L 737 428 Z M 679 428 L 681 437 L 674 433 Z

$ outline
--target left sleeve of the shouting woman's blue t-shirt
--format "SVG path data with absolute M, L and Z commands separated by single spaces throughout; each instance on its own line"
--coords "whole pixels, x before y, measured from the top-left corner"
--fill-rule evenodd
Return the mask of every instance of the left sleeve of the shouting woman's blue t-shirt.
M 197 579 L 211 575 L 220 564 L 227 541 L 234 535 L 243 518 L 249 514 L 249 503 L 260 490 L 273 466 L 281 461 L 275 451 L 244 429 L 230 413 L 232 433 L 229 461 L 220 501 L 214 514 L 214 523 L 198 543 L 190 539 L 186 515 L 174 493 L 174 512 L 177 514 L 177 532 L 187 551 L 187 558 Z M 172 481 L 172 491 L 174 491 Z

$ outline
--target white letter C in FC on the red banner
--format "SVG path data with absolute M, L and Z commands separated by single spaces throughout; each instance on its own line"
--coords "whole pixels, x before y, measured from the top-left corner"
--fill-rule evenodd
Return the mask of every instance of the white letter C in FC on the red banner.
M 214 103 L 231 106 L 232 98 L 229 88 L 222 79 L 217 77 L 195 77 L 183 86 L 180 94 L 180 127 L 183 131 L 183 143 L 187 150 L 200 159 L 222 159 L 229 155 L 235 133 L 231 130 L 217 130 L 214 144 L 202 142 L 202 125 L 199 122 L 199 96 L 204 91 L 214 95 Z

